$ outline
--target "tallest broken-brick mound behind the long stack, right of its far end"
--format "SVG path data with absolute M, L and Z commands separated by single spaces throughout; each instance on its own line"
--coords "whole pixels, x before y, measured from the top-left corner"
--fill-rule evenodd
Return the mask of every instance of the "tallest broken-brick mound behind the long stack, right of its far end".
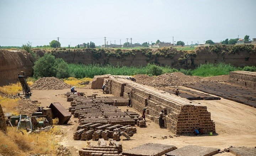
M 162 74 L 150 82 L 150 85 L 153 87 L 177 86 L 183 84 L 182 80 L 173 73 Z

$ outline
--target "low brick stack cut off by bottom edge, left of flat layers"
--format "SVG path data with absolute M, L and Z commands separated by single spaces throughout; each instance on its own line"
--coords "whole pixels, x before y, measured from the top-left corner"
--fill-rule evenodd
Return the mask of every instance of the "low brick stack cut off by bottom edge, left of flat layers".
M 79 150 L 79 156 L 122 156 L 119 151 L 119 145 L 116 146 L 91 146 Z

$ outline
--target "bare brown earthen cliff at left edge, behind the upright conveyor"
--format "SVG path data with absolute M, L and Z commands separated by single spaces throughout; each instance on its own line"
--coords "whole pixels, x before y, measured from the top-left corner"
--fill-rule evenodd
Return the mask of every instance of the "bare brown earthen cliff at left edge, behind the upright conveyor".
M 24 50 L 0 50 L 0 85 L 8 85 L 18 80 L 18 73 L 33 75 L 34 58 Z

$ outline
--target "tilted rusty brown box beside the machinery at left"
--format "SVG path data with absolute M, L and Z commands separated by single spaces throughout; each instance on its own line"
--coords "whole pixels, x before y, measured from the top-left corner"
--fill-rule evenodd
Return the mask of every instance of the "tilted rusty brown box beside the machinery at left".
M 53 118 L 59 119 L 59 124 L 67 124 L 71 118 L 70 113 L 59 102 L 53 102 L 49 108 L 52 109 Z

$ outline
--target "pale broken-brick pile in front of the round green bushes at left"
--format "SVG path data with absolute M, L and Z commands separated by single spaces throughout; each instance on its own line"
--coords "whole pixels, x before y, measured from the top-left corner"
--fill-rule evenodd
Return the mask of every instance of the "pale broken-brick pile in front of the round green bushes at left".
M 59 90 L 59 89 L 67 89 L 72 86 L 66 84 L 62 80 L 59 80 L 55 77 L 43 77 L 38 79 L 34 84 L 31 85 L 31 89 L 36 90 Z

